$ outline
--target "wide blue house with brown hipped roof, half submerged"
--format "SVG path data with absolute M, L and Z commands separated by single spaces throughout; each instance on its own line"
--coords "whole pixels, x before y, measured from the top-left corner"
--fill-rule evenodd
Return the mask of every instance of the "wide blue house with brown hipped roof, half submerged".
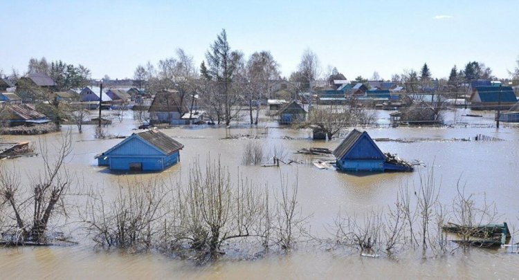
M 161 171 L 180 161 L 183 144 L 156 129 L 134 133 L 95 156 L 99 166 L 121 171 Z

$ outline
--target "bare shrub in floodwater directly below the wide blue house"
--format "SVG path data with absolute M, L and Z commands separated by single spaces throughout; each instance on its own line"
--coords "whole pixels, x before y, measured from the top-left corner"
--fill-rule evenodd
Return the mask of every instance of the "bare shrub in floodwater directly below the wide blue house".
M 120 183 L 113 200 L 91 190 L 79 212 L 80 221 L 102 247 L 147 249 L 154 245 L 161 219 L 169 211 L 169 192 L 157 180 Z

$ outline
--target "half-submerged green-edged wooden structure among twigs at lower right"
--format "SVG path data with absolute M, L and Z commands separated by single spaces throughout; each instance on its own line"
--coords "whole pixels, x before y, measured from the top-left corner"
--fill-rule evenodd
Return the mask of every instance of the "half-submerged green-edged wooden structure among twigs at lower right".
M 511 238 L 507 223 L 465 226 L 449 223 L 441 227 L 444 232 L 464 236 L 461 240 L 453 240 L 457 243 L 471 243 L 477 246 L 503 245 Z

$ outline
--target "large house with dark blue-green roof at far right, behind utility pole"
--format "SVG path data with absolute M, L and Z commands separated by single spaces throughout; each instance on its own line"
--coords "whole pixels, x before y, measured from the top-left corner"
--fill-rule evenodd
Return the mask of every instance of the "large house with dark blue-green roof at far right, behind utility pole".
M 510 86 L 477 86 L 470 102 L 473 110 L 508 110 L 517 103 L 517 97 Z

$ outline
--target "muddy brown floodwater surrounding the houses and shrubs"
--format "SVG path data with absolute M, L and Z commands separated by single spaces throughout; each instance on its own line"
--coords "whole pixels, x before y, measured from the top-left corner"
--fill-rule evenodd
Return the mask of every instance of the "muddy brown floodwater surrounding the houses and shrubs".
M 519 228 L 519 129 L 502 124 L 500 129 L 485 127 L 492 124 L 491 114 L 483 118 L 461 115 L 470 111 L 460 109 L 453 114 L 456 122 L 468 124 L 445 128 L 379 128 L 367 129 L 372 138 L 417 140 L 415 142 L 377 142 L 382 151 L 397 153 L 407 160 L 421 160 L 427 167 L 412 173 L 373 174 L 356 176 L 334 170 L 320 170 L 311 164 L 260 167 L 242 165 L 242 151 L 249 141 L 260 141 L 266 149 L 283 147 L 287 158 L 304 159 L 293 152 L 304 147 L 334 149 L 340 139 L 312 141 L 308 130 L 284 129 L 268 122 L 260 129 L 236 126 L 203 129 L 174 128 L 163 132 L 185 144 L 181 162 L 159 174 L 112 174 L 96 165 L 95 154 L 109 149 L 120 139 L 95 140 L 93 126 L 84 126 L 82 134 L 73 131 L 73 153 L 66 163 L 69 171 L 84 185 L 102 188 L 107 193 L 117 189 L 118 182 L 127 178 L 181 178 L 186 180 L 194 158 L 219 157 L 235 176 L 239 170 L 258 185 L 275 185 L 280 173 L 294 179 L 298 176 L 298 200 L 303 215 L 309 217 L 314 234 L 326 234 L 325 227 L 333 223 L 338 212 L 363 214 L 392 205 L 401 185 L 417 183 L 420 174 L 434 167 L 435 179 L 441 183 L 439 200 L 449 205 L 457 192 L 458 180 L 466 192 L 475 194 L 477 202 L 494 201 L 500 219 Z M 379 112 L 386 118 L 387 112 Z M 481 125 L 477 125 L 481 124 Z M 138 126 L 131 115 L 122 122 L 114 120 L 106 128 L 113 135 L 129 136 Z M 264 127 L 269 127 L 265 129 Z M 66 129 L 67 127 L 64 127 Z M 233 136 L 257 136 L 259 139 Z M 453 138 L 473 138 L 477 134 L 502 138 L 501 142 L 456 141 Z M 4 142 L 46 139 L 49 150 L 55 149 L 60 133 L 46 136 L 0 136 Z M 41 166 L 41 157 L 3 160 L 8 168 L 16 167 L 24 182 Z M 77 188 L 77 189 L 75 189 Z M 75 186 L 79 191 L 81 187 Z M 512 229 L 511 229 L 512 230 Z M 482 278 L 515 279 L 519 277 L 519 254 L 504 249 L 473 249 L 437 258 L 422 259 L 414 253 L 403 252 L 397 259 L 365 258 L 358 253 L 327 251 L 313 245 L 300 244 L 289 254 L 269 255 L 254 261 L 221 260 L 210 265 L 196 265 L 156 252 L 127 253 L 96 249 L 84 236 L 75 236 L 80 245 L 41 248 L 0 248 L 1 279 L 102 279 L 102 278 L 176 278 L 176 279 L 356 279 L 356 278 Z M 517 242 L 518 236 L 514 236 Z

